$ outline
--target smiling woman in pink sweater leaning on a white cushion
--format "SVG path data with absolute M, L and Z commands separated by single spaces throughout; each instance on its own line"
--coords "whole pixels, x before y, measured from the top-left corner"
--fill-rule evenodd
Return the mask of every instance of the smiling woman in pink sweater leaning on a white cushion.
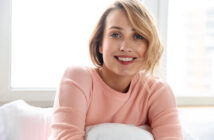
M 89 43 L 96 68 L 69 67 L 54 103 L 51 139 L 83 140 L 101 123 L 149 125 L 155 140 L 181 140 L 173 93 L 152 76 L 163 48 L 151 15 L 136 0 L 118 0 Z

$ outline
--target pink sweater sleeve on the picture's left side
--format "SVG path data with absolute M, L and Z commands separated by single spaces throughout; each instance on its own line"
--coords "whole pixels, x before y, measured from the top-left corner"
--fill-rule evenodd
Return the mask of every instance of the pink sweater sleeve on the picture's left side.
M 92 79 L 84 68 L 67 68 L 54 101 L 49 140 L 84 140 Z

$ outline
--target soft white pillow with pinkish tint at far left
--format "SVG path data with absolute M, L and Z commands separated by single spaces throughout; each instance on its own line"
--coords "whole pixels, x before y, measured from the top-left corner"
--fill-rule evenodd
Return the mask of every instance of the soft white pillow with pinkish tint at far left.
M 0 107 L 0 140 L 47 140 L 52 108 L 16 100 Z

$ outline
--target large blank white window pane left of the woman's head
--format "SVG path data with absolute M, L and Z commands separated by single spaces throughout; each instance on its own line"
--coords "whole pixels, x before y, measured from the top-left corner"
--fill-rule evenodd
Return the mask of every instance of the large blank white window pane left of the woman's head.
M 92 65 L 90 34 L 112 1 L 12 1 L 11 87 L 55 88 L 66 66 Z

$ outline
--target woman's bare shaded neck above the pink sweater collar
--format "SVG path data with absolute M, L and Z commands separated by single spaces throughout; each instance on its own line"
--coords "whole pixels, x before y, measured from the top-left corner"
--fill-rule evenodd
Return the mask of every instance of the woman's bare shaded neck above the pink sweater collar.
M 103 81 L 112 89 L 122 93 L 128 92 L 133 76 L 118 75 L 107 68 L 98 68 L 98 73 Z

